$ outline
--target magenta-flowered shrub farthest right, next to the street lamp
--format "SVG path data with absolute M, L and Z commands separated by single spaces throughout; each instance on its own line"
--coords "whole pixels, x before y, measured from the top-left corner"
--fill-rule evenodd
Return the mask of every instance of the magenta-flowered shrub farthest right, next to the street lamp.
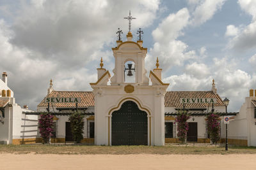
M 220 116 L 210 113 L 207 116 L 207 129 L 210 134 L 212 143 L 217 143 L 220 140 Z

